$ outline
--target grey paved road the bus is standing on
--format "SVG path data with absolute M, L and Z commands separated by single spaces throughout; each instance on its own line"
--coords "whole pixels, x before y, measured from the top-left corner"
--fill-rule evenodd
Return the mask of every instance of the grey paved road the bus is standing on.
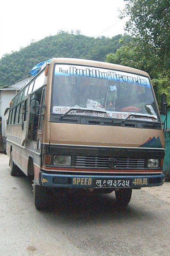
M 11 177 L 8 162 L 0 154 L 1 256 L 170 255 L 170 203 L 153 191 L 133 190 L 124 211 L 114 192 L 56 197 L 54 209 L 37 211 L 31 181 Z

